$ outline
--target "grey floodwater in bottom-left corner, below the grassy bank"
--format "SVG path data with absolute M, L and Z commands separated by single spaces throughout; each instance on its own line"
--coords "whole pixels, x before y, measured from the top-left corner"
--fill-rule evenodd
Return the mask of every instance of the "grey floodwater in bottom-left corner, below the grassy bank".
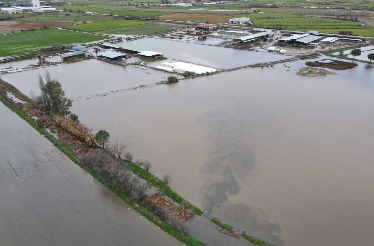
M 0 245 L 183 245 L 0 103 Z

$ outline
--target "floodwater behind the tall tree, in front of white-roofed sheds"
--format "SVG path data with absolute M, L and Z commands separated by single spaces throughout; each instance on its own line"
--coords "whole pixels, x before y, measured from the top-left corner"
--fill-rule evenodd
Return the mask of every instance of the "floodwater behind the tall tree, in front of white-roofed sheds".
M 18 73 L 4 74 L 3 80 L 13 84 L 22 93 L 29 95 L 30 90 L 39 93 L 38 75 L 49 71 L 65 90 L 68 98 L 103 94 L 114 90 L 128 89 L 141 84 L 152 84 L 166 80 L 170 73 L 152 70 L 141 66 L 119 65 L 91 59 L 88 61 L 60 64 Z M 180 78 L 180 76 L 177 76 Z M 105 95 L 105 94 L 104 94 Z

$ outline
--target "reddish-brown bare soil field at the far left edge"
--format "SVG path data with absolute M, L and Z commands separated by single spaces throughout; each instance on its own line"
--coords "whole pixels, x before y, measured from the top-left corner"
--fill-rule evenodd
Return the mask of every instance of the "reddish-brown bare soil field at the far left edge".
M 0 21 L 0 30 L 42 29 L 81 23 L 82 21 Z

